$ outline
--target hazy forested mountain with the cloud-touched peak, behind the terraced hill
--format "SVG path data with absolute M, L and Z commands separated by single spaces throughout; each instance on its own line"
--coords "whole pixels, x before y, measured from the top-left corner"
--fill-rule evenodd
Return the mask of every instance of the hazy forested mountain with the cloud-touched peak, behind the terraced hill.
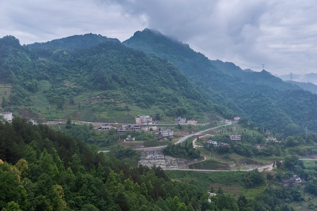
M 227 117 L 239 115 L 285 135 L 317 128 L 317 96 L 265 70 L 244 71 L 230 62 L 208 60 L 188 45 L 150 29 L 137 31 L 124 44 L 171 61 Z M 226 107 L 233 112 L 221 110 Z

